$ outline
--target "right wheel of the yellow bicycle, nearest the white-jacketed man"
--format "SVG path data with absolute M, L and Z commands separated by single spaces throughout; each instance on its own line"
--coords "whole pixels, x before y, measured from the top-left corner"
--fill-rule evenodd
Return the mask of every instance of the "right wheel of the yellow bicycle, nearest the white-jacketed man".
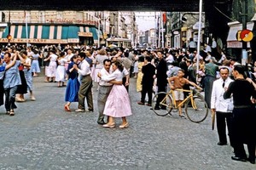
M 185 105 L 185 112 L 191 122 L 203 122 L 208 115 L 207 102 L 200 97 L 193 97 L 194 107 L 189 105 L 189 100 Z

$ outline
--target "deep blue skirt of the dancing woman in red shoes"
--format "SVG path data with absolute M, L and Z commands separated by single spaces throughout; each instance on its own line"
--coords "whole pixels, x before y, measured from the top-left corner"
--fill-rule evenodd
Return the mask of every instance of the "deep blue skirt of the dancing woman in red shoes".
M 67 88 L 65 94 L 65 101 L 68 102 L 78 102 L 79 101 L 79 79 L 76 77 L 74 79 L 69 78 L 67 81 Z

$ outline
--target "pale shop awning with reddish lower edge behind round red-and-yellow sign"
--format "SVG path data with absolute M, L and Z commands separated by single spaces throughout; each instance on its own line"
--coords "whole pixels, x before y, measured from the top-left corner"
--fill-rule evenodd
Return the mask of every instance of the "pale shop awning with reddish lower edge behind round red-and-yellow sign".
M 253 30 L 254 23 L 247 22 L 247 30 Z M 241 24 L 230 25 L 230 31 L 227 37 L 227 48 L 241 48 L 242 42 L 237 41 L 236 33 L 242 30 Z M 250 48 L 250 42 L 247 42 L 247 48 Z

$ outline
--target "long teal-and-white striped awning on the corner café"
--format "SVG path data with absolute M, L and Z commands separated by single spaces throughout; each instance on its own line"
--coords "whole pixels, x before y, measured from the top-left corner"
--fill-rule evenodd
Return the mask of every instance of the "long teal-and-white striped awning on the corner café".
M 27 33 L 26 33 L 27 32 Z M 0 42 L 8 42 L 9 27 L 0 31 Z M 89 26 L 10 26 L 10 42 L 22 43 L 79 43 L 79 37 L 98 39 L 96 27 Z M 100 32 L 100 35 L 101 32 Z

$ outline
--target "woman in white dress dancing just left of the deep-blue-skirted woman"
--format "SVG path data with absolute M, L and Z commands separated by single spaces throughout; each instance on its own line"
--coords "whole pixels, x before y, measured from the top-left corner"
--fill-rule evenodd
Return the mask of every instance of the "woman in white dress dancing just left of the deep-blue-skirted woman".
M 57 59 L 58 66 L 56 70 L 56 75 L 55 75 L 55 81 L 58 82 L 58 88 L 61 88 L 64 86 L 65 82 L 65 64 L 67 64 L 67 59 L 65 59 L 65 53 L 61 52 L 60 56 Z

